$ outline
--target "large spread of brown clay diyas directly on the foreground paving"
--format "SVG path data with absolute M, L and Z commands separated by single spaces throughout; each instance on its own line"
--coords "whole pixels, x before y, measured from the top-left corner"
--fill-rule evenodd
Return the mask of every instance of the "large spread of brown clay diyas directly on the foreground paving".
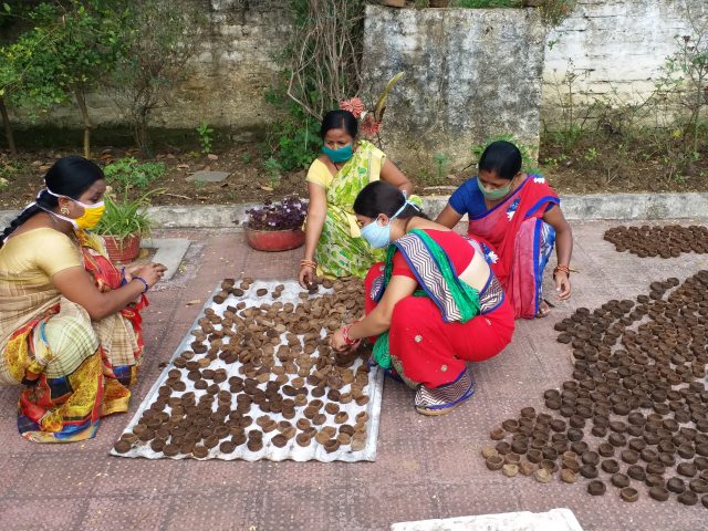
M 538 481 L 582 477 L 593 496 L 693 506 L 708 492 L 708 271 L 649 290 L 554 325 L 572 378 L 543 393 L 550 414 L 524 407 L 490 430 L 490 470 L 513 449 Z

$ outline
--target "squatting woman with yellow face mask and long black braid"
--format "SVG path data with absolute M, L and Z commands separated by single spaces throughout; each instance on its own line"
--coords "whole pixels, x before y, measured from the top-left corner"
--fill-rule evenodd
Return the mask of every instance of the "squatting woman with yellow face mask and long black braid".
M 143 355 L 139 310 L 165 267 L 121 272 L 87 232 L 104 210 L 95 164 L 61 158 L 44 183 L 0 241 L 0 385 L 24 386 L 24 438 L 70 442 L 127 410 Z

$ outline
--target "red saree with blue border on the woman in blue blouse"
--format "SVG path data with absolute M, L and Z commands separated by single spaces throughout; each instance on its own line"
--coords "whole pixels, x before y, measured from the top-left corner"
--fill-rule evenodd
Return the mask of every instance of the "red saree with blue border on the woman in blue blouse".
M 539 313 L 543 270 L 555 243 L 555 231 L 542 218 L 560 202 L 543 177 L 529 175 L 494 208 L 469 217 L 468 233 L 480 240 L 517 319 Z

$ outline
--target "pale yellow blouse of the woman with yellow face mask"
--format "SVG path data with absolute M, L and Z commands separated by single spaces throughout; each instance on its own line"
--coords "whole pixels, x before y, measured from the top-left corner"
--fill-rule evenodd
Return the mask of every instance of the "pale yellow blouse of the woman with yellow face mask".
M 77 266 L 83 266 L 79 246 L 46 227 L 12 236 L 0 248 L 0 275 L 9 282 L 49 283 L 54 274 Z

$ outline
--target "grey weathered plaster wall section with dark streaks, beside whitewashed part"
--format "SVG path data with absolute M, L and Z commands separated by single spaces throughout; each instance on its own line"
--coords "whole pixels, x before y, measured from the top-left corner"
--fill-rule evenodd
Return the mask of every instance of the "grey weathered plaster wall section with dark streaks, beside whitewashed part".
M 530 9 L 366 10 L 365 88 L 374 100 L 397 72 L 388 97 L 384 149 L 404 170 L 435 171 L 470 162 L 470 147 L 512 132 L 538 145 L 545 33 Z

